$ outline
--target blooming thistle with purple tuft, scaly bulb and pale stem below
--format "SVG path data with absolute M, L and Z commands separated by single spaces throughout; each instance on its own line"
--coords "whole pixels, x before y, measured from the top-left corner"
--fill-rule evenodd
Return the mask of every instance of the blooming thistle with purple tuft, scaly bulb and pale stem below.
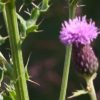
M 60 40 L 64 45 L 73 44 L 72 57 L 75 68 L 87 83 L 86 90 L 78 90 L 69 98 L 88 93 L 91 100 L 96 100 L 93 80 L 96 78 L 99 64 L 91 42 L 97 38 L 98 34 L 95 22 L 91 19 L 87 22 L 86 16 L 75 17 L 62 23 Z

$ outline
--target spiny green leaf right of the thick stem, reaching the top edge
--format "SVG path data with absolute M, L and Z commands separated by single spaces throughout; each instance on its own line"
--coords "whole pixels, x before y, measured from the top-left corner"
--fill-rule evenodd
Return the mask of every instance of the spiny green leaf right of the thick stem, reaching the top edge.
M 33 2 L 31 2 L 31 4 L 34 6 L 31 12 L 25 11 L 30 16 L 28 20 L 25 20 L 22 16 L 17 14 L 17 17 L 20 22 L 19 28 L 21 33 L 21 39 L 25 39 L 25 37 L 30 32 L 37 32 L 39 24 L 36 24 L 36 22 L 41 12 L 46 12 L 49 8 L 49 0 L 42 0 L 39 5 L 35 5 Z

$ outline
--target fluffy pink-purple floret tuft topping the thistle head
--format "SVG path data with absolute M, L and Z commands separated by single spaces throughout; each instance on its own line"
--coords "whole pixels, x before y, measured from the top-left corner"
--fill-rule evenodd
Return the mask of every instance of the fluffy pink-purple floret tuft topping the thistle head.
M 90 44 L 98 36 L 98 29 L 95 22 L 87 22 L 86 16 L 76 17 L 64 21 L 60 31 L 60 40 L 63 44 L 81 43 Z

